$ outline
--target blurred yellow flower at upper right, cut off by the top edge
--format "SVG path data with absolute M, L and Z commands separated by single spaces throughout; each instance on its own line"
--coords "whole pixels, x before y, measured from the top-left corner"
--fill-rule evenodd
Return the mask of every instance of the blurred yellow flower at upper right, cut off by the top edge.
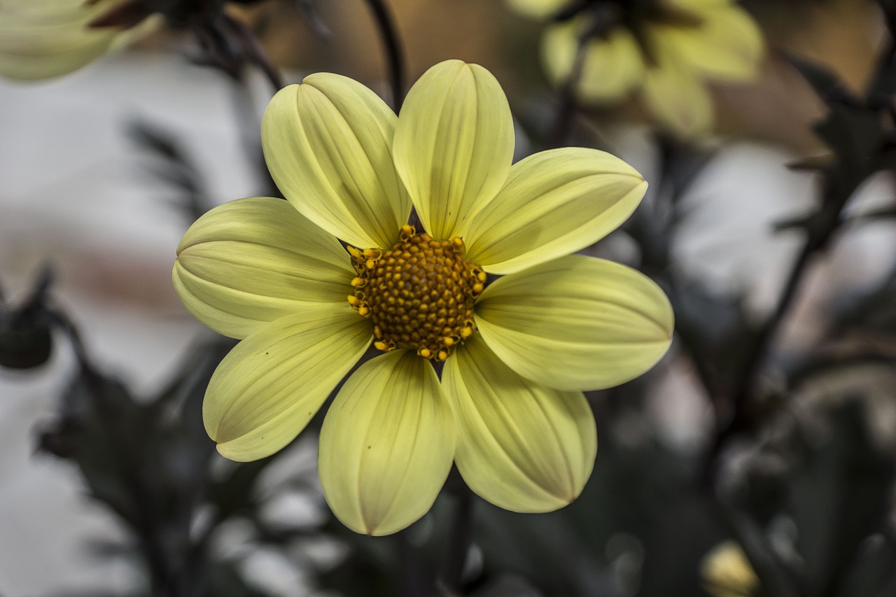
M 508 1 L 520 13 L 538 18 L 572 4 Z M 642 23 L 640 38 L 620 20 L 587 43 L 578 95 L 606 103 L 639 92 L 660 126 L 685 137 L 707 134 L 714 117 L 706 82 L 753 79 L 762 58 L 762 33 L 732 0 L 658 0 L 657 6 L 656 16 Z M 547 28 L 542 59 L 555 84 L 568 79 L 579 37 L 590 27 L 586 11 Z

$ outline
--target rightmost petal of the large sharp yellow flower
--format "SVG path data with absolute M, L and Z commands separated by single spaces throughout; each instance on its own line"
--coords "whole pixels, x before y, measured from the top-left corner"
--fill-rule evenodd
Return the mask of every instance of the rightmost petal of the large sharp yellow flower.
M 476 304 L 479 332 L 507 366 L 563 390 L 641 375 L 668 349 L 673 323 L 650 278 L 582 255 L 499 278 Z

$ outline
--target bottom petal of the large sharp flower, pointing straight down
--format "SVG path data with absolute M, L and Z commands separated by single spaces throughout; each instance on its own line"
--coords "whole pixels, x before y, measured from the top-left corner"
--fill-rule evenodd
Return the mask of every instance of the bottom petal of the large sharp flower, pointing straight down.
M 429 361 L 407 350 L 367 361 L 321 428 L 318 468 L 333 514 L 355 532 L 401 531 L 433 505 L 456 435 Z

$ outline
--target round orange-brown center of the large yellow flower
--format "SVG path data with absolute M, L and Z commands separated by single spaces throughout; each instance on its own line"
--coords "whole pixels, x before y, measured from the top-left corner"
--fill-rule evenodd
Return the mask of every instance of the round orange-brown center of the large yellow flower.
M 463 240 L 433 240 L 402 226 L 391 249 L 349 247 L 358 277 L 349 304 L 374 322 L 379 350 L 417 349 L 444 360 L 476 331 L 473 304 L 486 281 L 466 258 Z

